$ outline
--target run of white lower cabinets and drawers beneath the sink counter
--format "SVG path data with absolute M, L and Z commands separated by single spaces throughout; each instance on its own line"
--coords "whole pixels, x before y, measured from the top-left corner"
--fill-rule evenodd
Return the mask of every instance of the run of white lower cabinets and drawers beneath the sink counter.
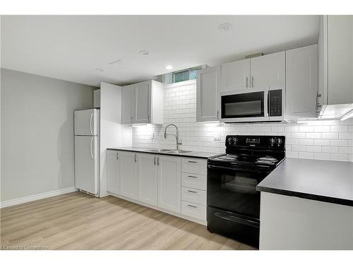
M 201 174 L 197 174 L 201 173 Z M 107 191 L 205 224 L 207 161 L 107 151 Z

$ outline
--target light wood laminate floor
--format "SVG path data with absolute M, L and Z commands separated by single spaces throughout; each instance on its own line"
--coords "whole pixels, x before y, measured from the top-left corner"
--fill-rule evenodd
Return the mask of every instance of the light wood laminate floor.
M 123 199 L 73 192 L 1 209 L 1 249 L 253 249 Z

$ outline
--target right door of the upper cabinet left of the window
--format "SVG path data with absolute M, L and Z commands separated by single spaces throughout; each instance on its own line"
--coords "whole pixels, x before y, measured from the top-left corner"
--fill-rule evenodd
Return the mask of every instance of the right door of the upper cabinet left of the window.
M 135 88 L 135 107 L 133 123 L 150 123 L 151 114 L 151 83 L 150 81 L 137 83 Z

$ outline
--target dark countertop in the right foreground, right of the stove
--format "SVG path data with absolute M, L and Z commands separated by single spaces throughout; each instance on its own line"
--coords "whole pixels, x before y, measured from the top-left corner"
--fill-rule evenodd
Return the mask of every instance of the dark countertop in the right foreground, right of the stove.
M 256 189 L 353 206 L 353 163 L 286 158 Z

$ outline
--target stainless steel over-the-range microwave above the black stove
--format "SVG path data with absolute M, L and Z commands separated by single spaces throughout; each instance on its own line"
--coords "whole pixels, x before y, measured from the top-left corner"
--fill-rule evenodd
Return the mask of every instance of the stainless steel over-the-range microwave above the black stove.
M 282 88 L 244 89 L 220 93 L 221 122 L 282 122 Z

